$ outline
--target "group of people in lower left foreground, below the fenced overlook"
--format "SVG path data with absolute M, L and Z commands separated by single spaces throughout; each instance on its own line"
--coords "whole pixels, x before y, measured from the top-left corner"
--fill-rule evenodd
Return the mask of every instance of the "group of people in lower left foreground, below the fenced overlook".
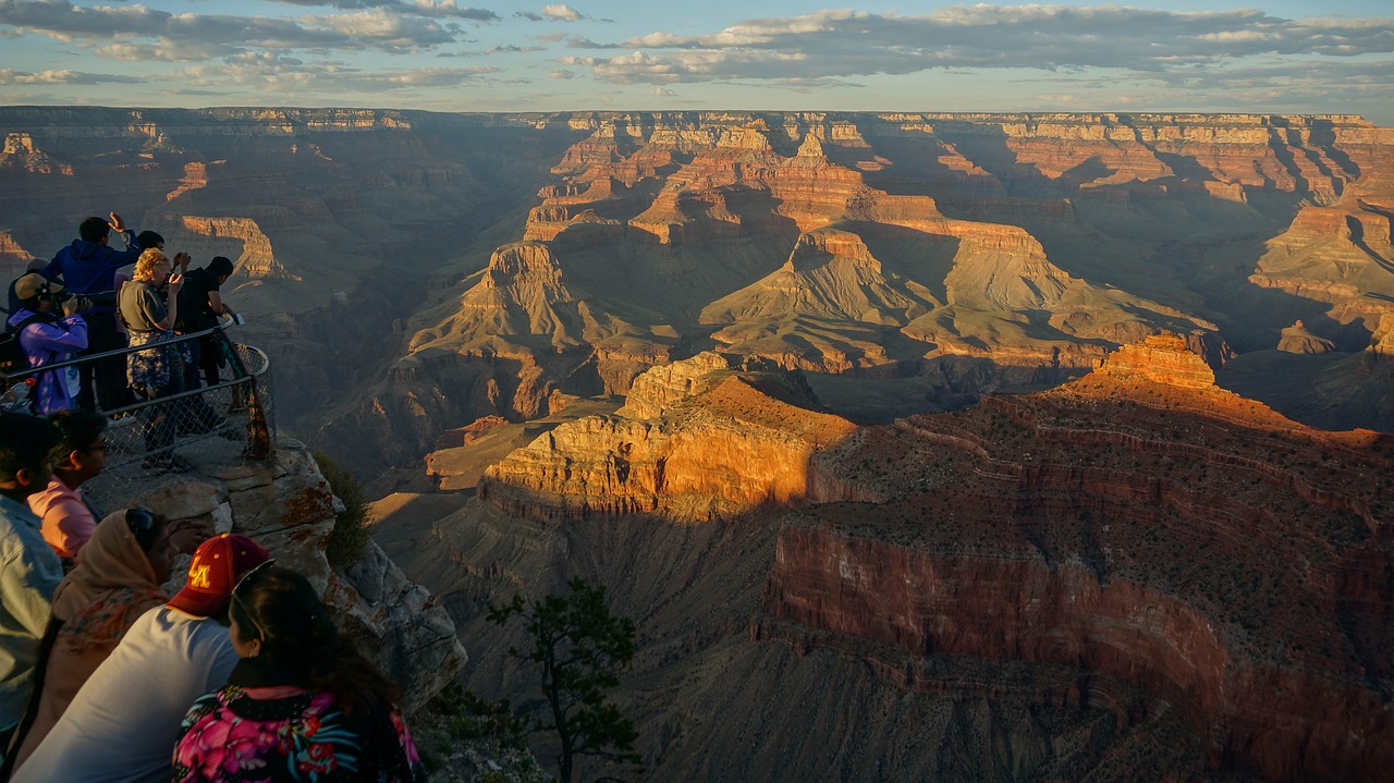
M 102 517 L 105 447 L 99 414 L 0 412 L 0 780 L 422 780 L 315 588 L 244 535 Z

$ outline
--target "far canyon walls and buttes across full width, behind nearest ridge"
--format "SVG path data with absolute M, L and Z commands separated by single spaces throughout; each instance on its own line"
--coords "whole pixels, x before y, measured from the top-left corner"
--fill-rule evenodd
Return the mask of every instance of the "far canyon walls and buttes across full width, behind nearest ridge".
M 1157 330 L 1303 421 L 1394 426 L 1366 361 L 1394 131 L 1358 117 L 4 107 L 0 132 L 0 261 L 109 208 L 229 255 L 297 368 L 287 424 L 362 468 L 704 350 L 889 421 Z

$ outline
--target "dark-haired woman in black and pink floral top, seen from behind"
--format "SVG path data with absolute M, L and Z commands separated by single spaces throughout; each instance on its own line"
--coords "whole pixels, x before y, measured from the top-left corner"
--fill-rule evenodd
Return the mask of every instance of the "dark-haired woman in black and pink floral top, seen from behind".
M 335 630 L 304 577 L 266 566 L 229 607 L 241 660 L 201 697 L 174 750 L 174 782 L 421 783 L 395 688 Z

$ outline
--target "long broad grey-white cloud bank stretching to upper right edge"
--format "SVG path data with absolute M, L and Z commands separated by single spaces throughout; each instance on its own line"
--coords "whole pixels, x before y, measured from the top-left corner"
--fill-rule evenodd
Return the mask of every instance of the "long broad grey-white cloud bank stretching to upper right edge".
M 818 11 L 705 35 L 652 32 L 576 49 L 629 50 L 590 65 L 612 82 L 838 78 L 931 68 L 1171 72 L 1259 56 L 1394 53 L 1391 20 L 1282 20 L 1262 11 L 1122 6 L 962 6 L 924 15 Z

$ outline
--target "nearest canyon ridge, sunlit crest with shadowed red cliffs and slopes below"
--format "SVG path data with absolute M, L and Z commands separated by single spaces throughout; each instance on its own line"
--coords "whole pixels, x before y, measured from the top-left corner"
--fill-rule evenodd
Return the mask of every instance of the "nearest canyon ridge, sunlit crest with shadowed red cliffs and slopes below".
M 495 463 L 463 509 L 424 496 L 383 535 L 435 520 L 399 556 L 471 649 L 507 642 L 488 599 L 606 582 L 640 624 L 625 697 L 655 779 L 1394 762 L 1388 435 L 1224 392 L 1181 337 L 888 426 L 810 410 L 799 379 L 714 354 L 651 371 L 626 408 Z M 526 681 L 491 656 L 473 679 Z

